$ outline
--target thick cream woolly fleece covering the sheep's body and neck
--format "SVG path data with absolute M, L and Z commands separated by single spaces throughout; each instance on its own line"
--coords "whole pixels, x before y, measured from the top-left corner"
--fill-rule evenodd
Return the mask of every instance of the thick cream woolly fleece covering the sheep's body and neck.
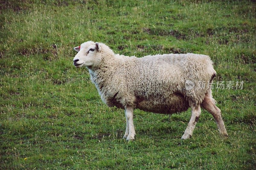
M 91 46 L 85 42 L 81 49 Z M 172 114 L 200 105 L 216 75 L 207 55 L 164 54 L 141 58 L 114 54 L 105 44 L 87 66 L 104 103 L 109 107 L 131 106 L 144 111 Z M 88 52 L 89 53 L 89 52 Z M 186 89 L 186 81 L 194 87 Z M 196 88 L 205 82 L 205 88 Z M 209 87 L 209 88 L 208 88 Z

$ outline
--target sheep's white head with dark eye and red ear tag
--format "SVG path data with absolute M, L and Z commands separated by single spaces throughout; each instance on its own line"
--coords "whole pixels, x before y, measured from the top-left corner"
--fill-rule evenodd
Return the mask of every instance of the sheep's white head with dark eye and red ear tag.
M 101 55 L 99 55 L 101 43 L 87 41 L 75 47 L 74 50 L 78 52 L 73 59 L 76 68 L 91 67 L 101 60 Z

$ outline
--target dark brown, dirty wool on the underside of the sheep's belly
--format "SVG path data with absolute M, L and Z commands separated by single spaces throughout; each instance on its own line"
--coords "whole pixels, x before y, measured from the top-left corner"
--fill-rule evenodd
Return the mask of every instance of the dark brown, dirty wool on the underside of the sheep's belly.
M 152 97 L 151 99 L 137 100 L 136 108 L 147 112 L 173 114 L 187 111 L 189 104 L 181 95 L 172 94 L 168 98 Z

